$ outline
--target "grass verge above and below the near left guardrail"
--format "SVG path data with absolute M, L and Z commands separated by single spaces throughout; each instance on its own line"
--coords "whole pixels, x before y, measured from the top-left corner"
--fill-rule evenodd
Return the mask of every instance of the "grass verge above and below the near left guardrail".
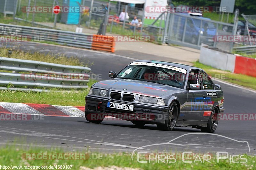
M 56 64 L 87 66 L 90 67 L 92 63 L 82 63 L 76 57 L 65 57 L 65 55 L 51 55 L 42 53 L 24 53 L 23 51 L 16 51 L 8 48 L 0 49 L 1 57 L 9 57 L 25 60 L 37 60 Z M 3 71 L 1 72 L 10 72 Z M 87 85 L 90 87 L 95 80 L 90 80 Z M 7 87 L 12 87 L 11 84 Z M 26 87 L 22 87 L 26 88 Z M 70 89 L 63 90 L 57 88 L 48 89 L 50 92 L 32 92 L 32 91 L 11 91 L 0 90 L 0 102 L 11 103 L 38 103 L 38 104 L 53 104 L 65 106 L 84 106 L 85 96 L 88 94 L 89 89 Z

